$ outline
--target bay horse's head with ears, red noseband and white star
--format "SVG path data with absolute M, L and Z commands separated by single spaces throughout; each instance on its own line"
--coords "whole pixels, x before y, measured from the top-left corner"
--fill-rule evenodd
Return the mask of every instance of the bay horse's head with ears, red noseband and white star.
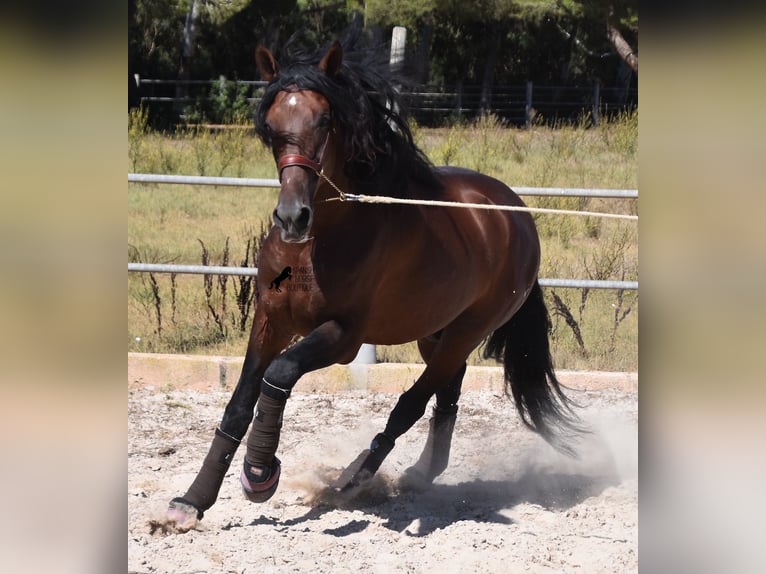
M 328 79 L 338 73 L 343 52 L 333 44 L 318 64 Z M 279 65 L 272 53 L 259 47 L 255 53 L 261 77 L 275 82 Z M 330 104 L 317 91 L 296 83 L 282 87 L 259 110 L 257 128 L 271 146 L 279 170 L 281 189 L 274 210 L 274 223 L 283 241 L 300 243 L 309 239 L 314 216 L 314 195 L 319 173 L 334 159 L 332 139 L 335 131 Z

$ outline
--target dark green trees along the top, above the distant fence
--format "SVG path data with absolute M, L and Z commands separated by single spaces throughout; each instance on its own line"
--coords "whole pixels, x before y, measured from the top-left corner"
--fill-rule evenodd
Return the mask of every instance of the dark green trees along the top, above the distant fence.
M 352 22 L 381 47 L 406 27 L 417 83 L 637 81 L 638 0 L 129 0 L 129 73 L 258 79 L 258 44 L 327 44 Z

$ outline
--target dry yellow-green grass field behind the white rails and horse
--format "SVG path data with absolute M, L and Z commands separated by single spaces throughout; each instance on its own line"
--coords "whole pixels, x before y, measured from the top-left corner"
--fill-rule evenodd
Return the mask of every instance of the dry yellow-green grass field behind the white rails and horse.
M 439 164 L 478 169 L 513 186 L 638 187 L 637 113 L 602 123 L 531 130 L 507 128 L 488 117 L 473 125 L 415 128 L 416 139 Z M 129 124 L 129 169 L 275 177 L 271 154 L 248 129 L 150 132 L 134 113 Z M 277 190 L 130 184 L 129 259 L 240 265 L 248 242 L 268 225 Z M 637 213 L 636 200 L 527 198 L 543 207 Z M 638 278 L 635 222 L 538 215 L 541 277 Z M 208 285 L 201 276 L 131 273 L 128 349 L 241 355 L 246 331 L 237 306 L 238 278 Z M 636 370 L 638 295 L 625 291 L 546 289 L 553 321 L 552 352 L 559 368 Z M 217 315 L 217 318 L 216 318 Z M 252 321 L 252 310 L 249 312 Z M 379 348 L 379 360 L 419 360 L 413 345 Z M 484 362 L 476 354 L 474 364 Z

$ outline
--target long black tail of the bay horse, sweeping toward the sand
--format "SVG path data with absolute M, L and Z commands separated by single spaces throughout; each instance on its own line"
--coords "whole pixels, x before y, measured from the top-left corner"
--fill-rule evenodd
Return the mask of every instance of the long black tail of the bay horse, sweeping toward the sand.
M 550 328 L 543 292 L 535 281 L 516 314 L 489 336 L 483 356 L 503 363 L 505 393 L 513 397 L 524 424 L 557 450 L 574 456 L 572 440 L 588 431 L 553 371 Z

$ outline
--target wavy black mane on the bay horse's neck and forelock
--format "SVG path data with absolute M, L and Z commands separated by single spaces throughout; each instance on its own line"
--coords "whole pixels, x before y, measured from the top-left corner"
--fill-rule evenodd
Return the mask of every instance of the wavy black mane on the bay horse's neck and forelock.
M 266 113 L 279 92 L 315 91 L 330 103 L 345 139 L 345 173 L 359 191 L 402 197 L 408 182 L 439 189 L 431 162 L 413 141 L 396 80 L 387 58 L 381 57 L 386 51 L 343 48 L 342 67 L 332 78 L 317 67 L 326 49 L 298 56 L 280 68 L 256 111 L 260 138 L 270 145 Z

